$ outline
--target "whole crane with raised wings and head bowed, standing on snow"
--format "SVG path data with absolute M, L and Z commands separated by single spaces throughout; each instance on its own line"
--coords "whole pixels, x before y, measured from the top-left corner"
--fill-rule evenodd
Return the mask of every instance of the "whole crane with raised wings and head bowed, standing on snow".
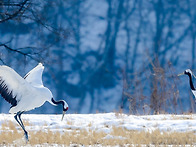
M 0 94 L 12 105 L 9 113 L 16 114 L 14 118 L 23 129 L 26 141 L 28 141 L 28 133 L 21 120 L 21 114 L 25 111 L 40 107 L 48 101 L 52 105 L 63 105 L 63 120 L 68 110 L 68 104 L 64 100 L 55 101 L 51 91 L 43 86 L 43 70 L 44 66 L 39 63 L 22 78 L 12 68 L 0 66 Z

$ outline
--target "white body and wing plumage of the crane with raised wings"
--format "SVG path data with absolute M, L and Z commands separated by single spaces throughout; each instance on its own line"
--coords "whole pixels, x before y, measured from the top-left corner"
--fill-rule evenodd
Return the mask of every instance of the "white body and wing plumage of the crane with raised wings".
M 17 101 L 17 105 L 9 113 L 29 111 L 42 106 L 46 101 L 51 102 L 52 93 L 43 86 L 41 80 L 43 70 L 44 66 L 39 64 L 24 79 L 10 67 L 0 66 L 0 77 L 7 85 L 8 93 L 12 91 Z

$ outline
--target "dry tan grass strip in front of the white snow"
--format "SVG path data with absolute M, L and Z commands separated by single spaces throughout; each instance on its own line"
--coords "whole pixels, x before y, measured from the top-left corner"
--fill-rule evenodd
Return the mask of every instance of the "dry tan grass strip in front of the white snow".
M 28 124 L 28 123 L 26 123 Z M 92 124 L 89 124 L 90 126 Z M 0 145 L 17 144 L 16 140 L 22 140 L 23 132 L 16 123 L 8 121 L 2 124 L 0 133 Z M 113 126 L 110 134 L 99 130 L 72 130 L 64 132 L 52 132 L 51 130 L 29 131 L 29 144 L 78 144 L 78 145 L 195 145 L 194 132 L 161 132 L 155 130 L 151 133 L 145 131 L 126 130 Z

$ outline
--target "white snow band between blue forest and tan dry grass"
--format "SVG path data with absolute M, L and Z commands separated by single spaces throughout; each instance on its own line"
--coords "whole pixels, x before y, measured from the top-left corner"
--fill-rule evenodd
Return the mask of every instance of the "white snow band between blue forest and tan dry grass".
M 99 113 L 99 114 L 67 114 L 64 120 L 61 121 L 61 115 L 36 115 L 23 114 L 22 119 L 30 125 L 26 125 L 26 130 L 29 131 L 44 131 L 50 129 L 52 132 L 59 131 L 71 132 L 76 130 L 94 130 L 104 132 L 104 139 L 114 137 L 110 132 L 113 127 L 121 127 L 126 130 L 148 131 L 154 130 L 170 131 L 170 132 L 196 132 L 196 115 L 125 115 L 119 113 Z M 1 114 L 1 133 L 2 124 L 12 121 L 14 123 L 14 115 Z M 16 124 L 16 129 L 21 128 Z M 4 130 L 5 131 L 5 130 Z M 29 136 L 31 138 L 32 136 Z M 123 139 L 123 138 L 122 138 Z

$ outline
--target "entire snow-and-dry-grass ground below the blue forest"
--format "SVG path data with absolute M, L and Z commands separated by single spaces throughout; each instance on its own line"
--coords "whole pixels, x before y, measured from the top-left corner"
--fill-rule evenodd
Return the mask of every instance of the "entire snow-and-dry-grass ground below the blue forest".
M 196 115 L 122 113 L 24 114 L 29 142 L 13 115 L 1 114 L 1 146 L 177 146 L 196 145 Z

